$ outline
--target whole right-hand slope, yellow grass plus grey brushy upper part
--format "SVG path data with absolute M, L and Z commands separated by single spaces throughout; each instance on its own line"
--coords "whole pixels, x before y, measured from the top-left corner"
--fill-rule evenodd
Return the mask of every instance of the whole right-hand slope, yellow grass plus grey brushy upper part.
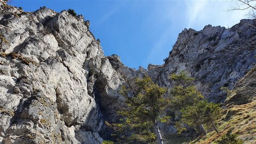
M 239 80 L 234 90 L 229 92 L 226 108 L 218 121 L 217 134 L 211 131 L 205 137 L 199 137 L 190 143 L 215 143 L 228 130 L 237 133 L 244 143 L 256 143 L 256 68 Z

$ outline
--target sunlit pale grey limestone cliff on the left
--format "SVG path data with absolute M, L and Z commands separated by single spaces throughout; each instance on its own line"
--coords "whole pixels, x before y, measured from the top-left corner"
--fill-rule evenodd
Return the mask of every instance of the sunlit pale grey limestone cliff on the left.
M 101 143 L 94 84 L 114 72 L 84 22 L 3 2 L 0 15 L 0 141 Z

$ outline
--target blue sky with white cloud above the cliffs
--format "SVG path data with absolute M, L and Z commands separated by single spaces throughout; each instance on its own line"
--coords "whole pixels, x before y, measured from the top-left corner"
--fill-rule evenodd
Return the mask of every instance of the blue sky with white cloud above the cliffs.
M 231 27 L 246 18 L 244 11 L 226 10 L 227 0 L 201 1 L 57 1 L 10 0 L 25 11 L 40 6 L 52 10 L 74 9 L 90 20 L 90 30 L 99 38 L 105 55 L 117 54 L 132 68 L 163 64 L 184 28 L 201 30 L 207 24 Z

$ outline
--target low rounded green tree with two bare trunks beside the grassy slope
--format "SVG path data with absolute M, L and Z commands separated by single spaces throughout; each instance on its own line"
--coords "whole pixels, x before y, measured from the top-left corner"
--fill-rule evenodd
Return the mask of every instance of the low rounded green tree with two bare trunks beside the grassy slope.
M 213 128 L 217 133 L 218 129 L 215 126 L 215 121 L 221 117 L 221 108 L 219 104 L 209 103 L 206 100 L 199 101 L 193 106 L 182 108 L 181 121 L 193 128 L 199 128 L 205 135 L 204 125 L 208 128 Z

